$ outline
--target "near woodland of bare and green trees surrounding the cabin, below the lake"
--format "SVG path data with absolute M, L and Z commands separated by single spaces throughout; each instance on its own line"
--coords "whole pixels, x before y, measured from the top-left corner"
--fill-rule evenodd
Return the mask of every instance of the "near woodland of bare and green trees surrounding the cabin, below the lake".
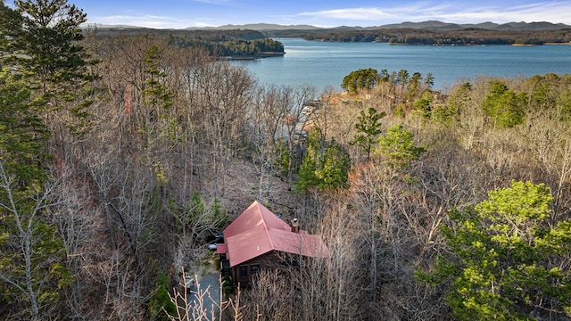
M 86 19 L 0 1 L 0 319 L 205 319 L 184 276 L 254 200 L 330 257 L 212 319 L 571 319 L 571 75 L 319 93 Z

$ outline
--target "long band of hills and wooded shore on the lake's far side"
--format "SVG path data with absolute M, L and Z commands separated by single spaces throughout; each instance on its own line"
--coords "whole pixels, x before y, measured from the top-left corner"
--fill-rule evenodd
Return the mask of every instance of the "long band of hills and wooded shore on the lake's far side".
M 571 44 L 571 26 L 550 22 L 455 24 L 442 21 L 402 22 L 372 27 L 319 28 L 310 25 L 256 23 L 210 28 L 150 29 L 125 25 L 87 25 L 99 35 L 155 34 L 178 37 L 188 45 L 195 38 L 210 42 L 232 39 L 298 37 L 333 42 L 386 42 L 403 45 L 544 45 Z M 451 44 L 451 39 L 454 43 Z M 232 54 L 235 55 L 235 54 Z

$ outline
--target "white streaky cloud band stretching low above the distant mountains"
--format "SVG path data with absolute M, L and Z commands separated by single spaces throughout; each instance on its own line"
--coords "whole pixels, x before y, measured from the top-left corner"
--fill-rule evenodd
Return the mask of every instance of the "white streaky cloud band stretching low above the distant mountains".
M 394 0 L 396 1 L 396 0 Z M 525 1 L 528 1 L 525 3 Z M 157 29 L 184 29 L 187 27 L 219 26 L 227 23 L 253 23 L 275 22 L 281 24 L 310 24 L 319 27 L 336 27 L 340 25 L 374 26 L 403 21 L 429 21 L 438 20 L 452 23 L 479 23 L 492 21 L 505 23 L 511 21 L 550 21 L 553 23 L 566 23 L 571 25 L 571 1 L 533 2 L 534 0 L 478 0 L 477 3 L 468 3 L 461 0 L 451 2 L 435 2 L 422 0 L 419 2 L 389 2 L 383 6 L 360 6 L 327 8 L 313 12 L 284 12 L 276 11 L 266 14 L 263 11 L 253 12 L 252 8 L 244 9 L 236 0 L 186 0 L 194 3 L 194 9 L 178 16 L 181 11 L 157 14 L 137 14 L 136 12 L 123 12 L 122 15 L 99 17 L 89 15 L 89 23 L 136 25 Z M 205 4 L 207 9 L 197 3 Z M 516 3 L 516 4 L 514 4 Z M 212 5 L 211 5 L 212 4 Z M 220 5 L 219 7 L 214 4 Z M 222 10 L 222 7 L 231 7 Z M 261 8 L 263 9 L 263 8 Z M 256 9 L 257 10 L 257 9 Z M 195 14 L 195 16 L 193 16 Z M 263 18 L 262 18 L 263 17 Z M 270 21 L 251 21 L 270 20 Z

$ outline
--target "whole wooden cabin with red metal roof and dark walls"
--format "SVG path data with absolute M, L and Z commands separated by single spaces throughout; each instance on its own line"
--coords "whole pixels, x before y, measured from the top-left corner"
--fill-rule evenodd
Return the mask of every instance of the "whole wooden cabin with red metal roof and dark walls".
M 280 253 L 328 258 L 327 246 L 318 235 L 300 229 L 297 219 L 287 224 L 260 202 L 253 202 L 223 232 L 219 244 L 222 275 L 235 285 L 246 283 L 264 268 L 283 268 Z

